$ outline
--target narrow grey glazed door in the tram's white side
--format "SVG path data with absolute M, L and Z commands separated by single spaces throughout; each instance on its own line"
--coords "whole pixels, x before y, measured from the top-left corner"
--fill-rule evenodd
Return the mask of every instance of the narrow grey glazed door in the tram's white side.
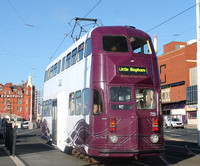
M 57 144 L 57 99 L 52 104 L 52 140 Z

